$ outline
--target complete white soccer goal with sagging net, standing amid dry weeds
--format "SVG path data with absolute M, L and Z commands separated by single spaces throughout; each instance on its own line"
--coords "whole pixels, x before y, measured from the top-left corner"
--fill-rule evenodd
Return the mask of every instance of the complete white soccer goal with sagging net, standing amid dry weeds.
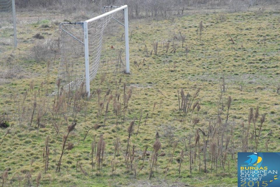
M 60 23 L 61 59 L 58 79 L 65 91 L 90 81 L 97 71 L 129 73 L 128 11 L 124 6 L 105 6 L 103 14 L 81 22 Z

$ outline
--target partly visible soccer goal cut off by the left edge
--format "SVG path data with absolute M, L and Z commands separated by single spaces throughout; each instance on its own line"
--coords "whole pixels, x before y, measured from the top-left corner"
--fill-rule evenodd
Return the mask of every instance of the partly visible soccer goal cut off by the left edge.
M 17 46 L 15 0 L 0 0 L 0 53 Z

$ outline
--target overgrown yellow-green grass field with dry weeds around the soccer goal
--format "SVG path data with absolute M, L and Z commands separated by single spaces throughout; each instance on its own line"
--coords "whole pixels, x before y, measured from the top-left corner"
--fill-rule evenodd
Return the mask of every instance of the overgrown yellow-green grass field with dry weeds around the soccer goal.
M 75 109 L 73 95 L 46 96 L 59 47 L 44 59 L 31 50 L 59 46 L 62 21 L 20 22 L 17 49 L 1 54 L 3 186 L 237 186 L 237 152 L 280 151 L 278 11 L 130 20 L 131 74 L 98 74 Z

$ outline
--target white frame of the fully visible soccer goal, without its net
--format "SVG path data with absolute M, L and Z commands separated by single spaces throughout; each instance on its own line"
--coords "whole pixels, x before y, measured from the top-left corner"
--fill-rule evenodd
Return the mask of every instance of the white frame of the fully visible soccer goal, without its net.
M 126 70 L 125 72 L 128 74 L 129 73 L 129 33 L 128 33 L 128 10 L 127 10 L 127 5 L 120 6 L 118 8 L 115 8 L 111 11 L 108 11 L 106 13 L 103 13 L 101 15 L 96 16 L 95 18 L 91 18 L 89 20 L 85 20 L 83 22 L 62 22 L 60 23 L 60 29 L 68 34 L 70 37 L 74 38 L 76 41 L 84 45 L 84 53 L 85 53 L 85 86 L 86 86 L 86 92 L 88 94 L 88 97 L 90 96 L 90 65 L 89 65 L 89 38 L 88 38 L 88 24 L 91 22 L 95 22 L 97 20 L 100 20 L 102 18 L 106 18 L 107 16 L 110 16 L 114 13 L 117 13 L 118 11 L 123 11 L 124 12 L 124 24 L 119 22 L 121 25 L 125 27 L 125 60 L 126 60 Z M 78 39 L 75 37 L 74 34 L 72 34 L 70 31 L 64 30 L 62 28 L 62 25 L 67 25 L 67 24 L 75 24 L 75 25 L 81 25 L 83 28 L 84 32 L 84 38 L 83 41 L 81 39 Z

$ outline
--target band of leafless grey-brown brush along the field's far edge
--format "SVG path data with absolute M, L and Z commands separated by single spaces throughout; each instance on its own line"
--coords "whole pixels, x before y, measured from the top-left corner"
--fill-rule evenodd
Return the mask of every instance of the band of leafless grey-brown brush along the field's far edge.
M 77 4 L 76 0 L 16 0 L 16 7 L 19 8 L 47 8 L 65 13 L 79 13 L 81 11 L 100 12 L 103 6 L 114 6 L 127 4 L 130 18 L 172 18 L 172 16 L 182 16 L 185 10 L 201 8 L 223 7 L 226 11 L 247 11 L 253 5 L 277 4 L 278 1 L 272 0 L 81 0 Z M 191 7 L 191 8 L 190 8 Z M 188 10 L 187 10 L 188 11 Z

